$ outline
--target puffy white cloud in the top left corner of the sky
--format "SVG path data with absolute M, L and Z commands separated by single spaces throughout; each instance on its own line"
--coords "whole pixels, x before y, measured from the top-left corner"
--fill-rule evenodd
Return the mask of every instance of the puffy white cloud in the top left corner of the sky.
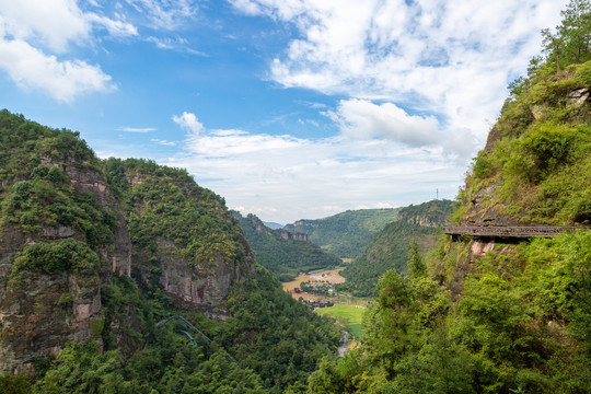
M 94 28 L 105 28 L 113 36 L 138 34 L 125 21 L 83 12 L 73 0 L 2 0 L 0 68 L 20 86 L 38 89 L 59 102 L 113 90 L 111 76 L 100 66 L 58 57 L 70 45 L 91 40 Z

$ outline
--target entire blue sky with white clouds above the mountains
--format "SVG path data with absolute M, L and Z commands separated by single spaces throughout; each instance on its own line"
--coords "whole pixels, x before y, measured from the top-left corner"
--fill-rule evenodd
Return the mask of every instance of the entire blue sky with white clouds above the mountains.
M 0 107 L 291 222 L 453 198 L 566 0 L 0 0 Z

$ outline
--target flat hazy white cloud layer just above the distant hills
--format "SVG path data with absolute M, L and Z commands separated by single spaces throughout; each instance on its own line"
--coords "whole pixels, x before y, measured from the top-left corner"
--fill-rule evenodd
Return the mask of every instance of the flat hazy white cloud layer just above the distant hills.
M 197 121 L 190 113 L 176 118 Z M 184 121 L 175 123 L 186 129 Z M 183 142 L 183 153 L 162 163 L 186 167 L 230 208 L 265 220 L 421 202 L 434 198 L 436 188 L 452 198 L 465 169 L 440 148 L 409 148 L 392 139 L 305 139 L 199 125 Z

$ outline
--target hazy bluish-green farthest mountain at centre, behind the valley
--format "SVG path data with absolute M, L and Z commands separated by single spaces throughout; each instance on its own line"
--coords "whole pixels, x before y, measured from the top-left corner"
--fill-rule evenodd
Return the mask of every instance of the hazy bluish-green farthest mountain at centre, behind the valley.
M 285 229 L 305 232 L 324 251 L 352 258 L 363 253 L 373 236 L 397 215 L 397 208 L 348 210 L 324 219 L 299 220 Z

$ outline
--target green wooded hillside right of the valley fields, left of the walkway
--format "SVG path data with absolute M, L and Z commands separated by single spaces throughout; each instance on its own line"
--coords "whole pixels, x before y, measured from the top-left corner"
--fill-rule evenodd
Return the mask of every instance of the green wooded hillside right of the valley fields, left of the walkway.
M 396 221 L 387 224 L 366 250 L 340 275 L 347 281 L 338 286 L 339 291 L 350 291 L 356 297 L 372 296 L 378 280 L 389 269 L 402 273 L 406 269 L 409 245 L 413 240 L 421 251 L 434 245 L 438 230 L 430 227 Z

